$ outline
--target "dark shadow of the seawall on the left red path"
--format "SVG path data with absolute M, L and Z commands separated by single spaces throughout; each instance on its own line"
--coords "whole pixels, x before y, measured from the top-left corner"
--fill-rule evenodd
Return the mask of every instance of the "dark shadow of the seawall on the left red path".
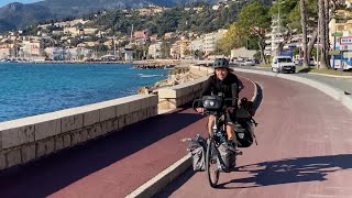
M 45 197 L 102 169 L 202 117 L 191 110 L 150 118 L 122 131 L 0 173 L 1 197 Z

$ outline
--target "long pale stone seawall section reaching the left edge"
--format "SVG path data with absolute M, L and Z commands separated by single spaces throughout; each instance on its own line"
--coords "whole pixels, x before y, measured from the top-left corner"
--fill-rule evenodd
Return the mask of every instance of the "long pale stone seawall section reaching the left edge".
M 0 169 L 24 164 L 157 114 L 155 95 L 135 95 L 0 123 Z

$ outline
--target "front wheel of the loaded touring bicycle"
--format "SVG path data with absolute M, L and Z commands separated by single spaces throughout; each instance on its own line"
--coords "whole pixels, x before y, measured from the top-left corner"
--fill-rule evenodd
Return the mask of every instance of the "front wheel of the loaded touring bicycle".
M 206 166 L 209 184 L 211 187 L 217 187 L 219 182 L 220 170 L 218 168 L 218 155 L 216 153 L 216 144 L 212 138 L 210 138 L 207 146 Z

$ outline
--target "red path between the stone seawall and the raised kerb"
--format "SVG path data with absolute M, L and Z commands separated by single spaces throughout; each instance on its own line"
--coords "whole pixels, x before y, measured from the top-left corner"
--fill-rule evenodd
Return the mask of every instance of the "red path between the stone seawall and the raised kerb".
M 241 96 L 254 86 L 242 79 Z M 124 197 L 187 154 L 185 138 L 206 135 L 189 108 L 160 114 L 84 145 L 0 172 L 0 197 Z

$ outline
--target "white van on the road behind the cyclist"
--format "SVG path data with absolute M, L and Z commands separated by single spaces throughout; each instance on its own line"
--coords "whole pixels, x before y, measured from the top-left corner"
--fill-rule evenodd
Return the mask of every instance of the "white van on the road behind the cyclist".
M 274 73 L 296 73 L 296 65 L 290 56 L 275 56 L 272 62 Z

